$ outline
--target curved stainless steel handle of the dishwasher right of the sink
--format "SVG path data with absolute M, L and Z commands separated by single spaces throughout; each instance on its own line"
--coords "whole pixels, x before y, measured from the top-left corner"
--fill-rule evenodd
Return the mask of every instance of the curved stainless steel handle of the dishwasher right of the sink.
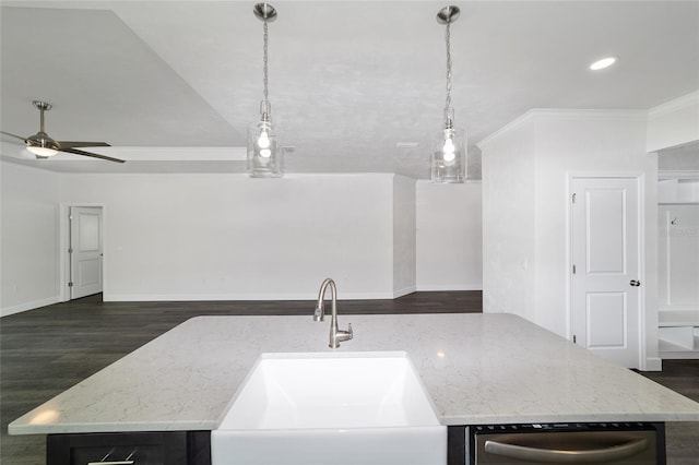
M 556 449 L 528 448 L 487 440 L 485 451 L 489 454 L 535 463 L 589 464 L 631 457 L 648 448 L 648 439 L 639 438 L 621 444 L 589 451 L 564 451 Z

